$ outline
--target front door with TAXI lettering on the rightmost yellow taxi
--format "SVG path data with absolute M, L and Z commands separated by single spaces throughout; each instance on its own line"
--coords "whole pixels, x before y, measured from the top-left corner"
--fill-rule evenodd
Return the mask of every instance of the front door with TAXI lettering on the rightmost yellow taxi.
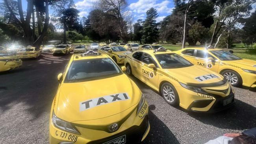
M 212 57 L 214 61 L 208 60 L 208 57 Z M 195 65 L 199 65 L 208 68 L 214 72 L 218 72 L 219 64 L 216 63 L 216 58 L 213 57 L 208 51 L 196 50 L 196 57 L 194 60 Z

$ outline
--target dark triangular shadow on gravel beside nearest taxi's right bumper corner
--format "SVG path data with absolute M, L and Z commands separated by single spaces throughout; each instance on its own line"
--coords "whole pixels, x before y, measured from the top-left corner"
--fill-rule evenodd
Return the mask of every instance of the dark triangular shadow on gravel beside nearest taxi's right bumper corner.
M 148 120 L 150 131 L 142 144 L 180 144 L 170 129 L 152 113 L 156 109 L 154 105 L 149 105 Z

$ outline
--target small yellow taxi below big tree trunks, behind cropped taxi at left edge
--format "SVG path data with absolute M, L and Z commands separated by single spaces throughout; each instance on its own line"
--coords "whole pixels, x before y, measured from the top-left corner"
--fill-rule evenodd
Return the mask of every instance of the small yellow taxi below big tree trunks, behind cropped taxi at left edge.
M 41 50 L 37 50 L 35 47 L 27 46 L 17 52 L 17 56 L 20 58 L 35 58 L 37 59 L 41 55 Z

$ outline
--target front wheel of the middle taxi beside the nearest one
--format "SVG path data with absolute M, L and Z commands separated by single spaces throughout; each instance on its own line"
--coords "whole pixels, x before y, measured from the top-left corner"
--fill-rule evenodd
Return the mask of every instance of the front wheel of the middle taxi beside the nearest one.
M 170 93 L 174 94 L 174 100 L 173 101 L 171 99 L 172 96 L 169 96 L 169 95 L 165 96 L 166 94 L 164 95 L 164 89 L 166 90 L 166 87 L 170 87 L 171 88 L 172 92 L 170 92 Z M 163 99 L 165 100 L 165 102 L 167 102 L 169 105 L 177 106 L 177 105 L 180 104 L 180 99 L 179 99 L 178 92 L 177 92 L 177 90 L 175 89 L 175 87 L 171 83 L 163 83 L 161 85 L 161 95 L 163 96 Z

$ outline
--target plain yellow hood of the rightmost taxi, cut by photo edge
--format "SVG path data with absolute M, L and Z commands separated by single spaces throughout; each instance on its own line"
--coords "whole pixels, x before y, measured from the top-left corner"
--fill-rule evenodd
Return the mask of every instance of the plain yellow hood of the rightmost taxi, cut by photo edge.
M 256 70 L 256 61 L 249 59 L 240 59 L 236 61 L 223 61 L 224 63 L 228 63 L 231 65 L 239 66 L 248 70 Z

